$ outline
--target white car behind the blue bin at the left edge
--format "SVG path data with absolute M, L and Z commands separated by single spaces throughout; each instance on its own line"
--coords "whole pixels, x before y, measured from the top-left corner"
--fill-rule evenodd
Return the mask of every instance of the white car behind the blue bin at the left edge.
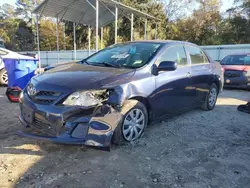
M 3 58 L 8 59 L 34 59 L 34 57 L 22 55 L 0 47 L 0 85 L 8 84 L 8 73 L 5 69 Z

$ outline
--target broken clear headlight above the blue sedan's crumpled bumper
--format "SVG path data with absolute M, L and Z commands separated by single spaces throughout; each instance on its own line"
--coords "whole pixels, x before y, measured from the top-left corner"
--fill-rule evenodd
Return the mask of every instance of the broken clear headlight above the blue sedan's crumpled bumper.
M 71 94 L 63 104 L 69 106 L 91 107 L 101 104 L 106 99 L 106 90 L 79 91 Z

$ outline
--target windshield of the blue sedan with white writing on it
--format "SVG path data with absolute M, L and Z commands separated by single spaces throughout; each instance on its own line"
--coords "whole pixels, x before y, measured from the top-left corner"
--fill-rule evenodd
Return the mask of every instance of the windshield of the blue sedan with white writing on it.
M 139 68 L 145 65 L 161 46 L 160 43 L 124 43 L 108 47 L 85 60 L 90 65 Z

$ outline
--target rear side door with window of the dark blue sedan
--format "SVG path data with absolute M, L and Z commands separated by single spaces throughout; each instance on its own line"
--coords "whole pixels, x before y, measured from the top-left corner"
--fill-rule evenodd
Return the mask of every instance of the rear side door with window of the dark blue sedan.
M 187 56 L 191 61 L 192 82 L 196 92 L 195 102 L 205 100 L 213 83 L 213 69 L 205 53 L 197 46 L 185 45 Z

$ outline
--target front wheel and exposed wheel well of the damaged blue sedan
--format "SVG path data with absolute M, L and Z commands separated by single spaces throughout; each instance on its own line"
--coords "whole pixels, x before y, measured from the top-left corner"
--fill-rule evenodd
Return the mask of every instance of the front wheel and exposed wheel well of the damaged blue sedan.
M 135 141 L 139 139 L 147 125 L 148 125 L 148 112 L 145 105 L 137 100 L 128 100 L 124 103 L 121 109 L 122 118 L 118 126 L 116 127 L 113 137 L 112 143 L 116 145 L 122 145 L 128 142 Z M 136 116 L 139 114 L 136 122 Z M 131 119 L 131 116 L 134 115 L 135 119 Z M 140 119 L 144 120 L 140 121 Z M 136 134 L 136 130 L 137 133 Z M 131 131 L 133 133 L 131 133 Z M 126 134 L 126 132 L 128 132 Z M 130 139 L 130 135 L 132 134 L 132 138 Z M 134 136 L 134 137 L 133 137 Z

